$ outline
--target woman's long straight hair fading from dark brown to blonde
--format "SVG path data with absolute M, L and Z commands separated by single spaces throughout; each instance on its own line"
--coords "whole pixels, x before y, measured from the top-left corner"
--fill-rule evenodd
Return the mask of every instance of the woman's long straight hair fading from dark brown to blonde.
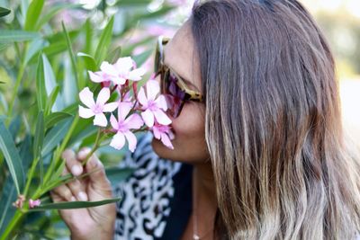
M 190 21 L 220 239 L 355 239 L 360 164 L 310 13 L 295 0 L 212 0 Z

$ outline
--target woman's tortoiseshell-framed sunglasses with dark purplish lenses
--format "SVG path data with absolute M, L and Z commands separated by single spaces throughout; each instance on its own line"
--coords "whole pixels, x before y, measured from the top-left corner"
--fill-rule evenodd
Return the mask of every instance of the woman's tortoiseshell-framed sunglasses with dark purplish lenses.
M 170 39 L 160 36 L 157 40 L 155 55 L 155 73 L 160 76 L 161 93 L 165 95 L 168 106 L 167 114 L 177 118 L 184 103 L 188 101 L 203 102 L 202 93 L 195 92 L 185 84 L 184 79 L 164 64 L 164 46 Z

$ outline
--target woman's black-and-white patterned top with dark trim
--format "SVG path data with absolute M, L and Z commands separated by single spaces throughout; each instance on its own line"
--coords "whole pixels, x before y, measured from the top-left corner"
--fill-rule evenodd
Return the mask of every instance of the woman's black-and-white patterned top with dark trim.
M 114 239 L 179 239 L 192 212 L 190 164 L 159 158 L 150 145 L 151 136 L 121 162 L 135 172 L 115 188 L 122 200 L 117 205 Z

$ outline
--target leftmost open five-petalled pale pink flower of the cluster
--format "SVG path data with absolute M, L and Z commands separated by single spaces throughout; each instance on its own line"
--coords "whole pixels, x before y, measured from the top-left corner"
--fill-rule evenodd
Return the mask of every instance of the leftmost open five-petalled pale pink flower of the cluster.
M 88 87 L 85 87 L 79 93 L 80 101 L 85 104 L 88 109 L 79 105 L 79 116 L 84 119 L 94 118 L 94 125 L 100 127 L 107 126 L 107 120 L 103 112 L 112 112 L 118 107 L 118 102 L 111 102 L 105 104 L 106 101 L 110 98 L 110 90 L 107 87 L 104 87 L 99 95 L 97 96 L 96 103 L 94 102 L 94 94 L 90 91 Z

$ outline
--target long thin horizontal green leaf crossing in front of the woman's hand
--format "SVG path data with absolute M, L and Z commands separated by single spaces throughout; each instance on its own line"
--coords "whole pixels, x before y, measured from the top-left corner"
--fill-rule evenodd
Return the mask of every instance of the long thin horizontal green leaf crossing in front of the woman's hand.
M 51 210 L 51 209 L 85 209 L 97 207 L 113 202 L 117 202 L 121 200 L 121 198 L 114 198 L 108 200 L 99 200 L 99 201 L 65 201 L 65 202 L 57 202 L 57 203 L 48 203 L 41 204 L 39 207 L 34 209 L 29 209 L 29 211 L 43 211 L 43 210 Z

